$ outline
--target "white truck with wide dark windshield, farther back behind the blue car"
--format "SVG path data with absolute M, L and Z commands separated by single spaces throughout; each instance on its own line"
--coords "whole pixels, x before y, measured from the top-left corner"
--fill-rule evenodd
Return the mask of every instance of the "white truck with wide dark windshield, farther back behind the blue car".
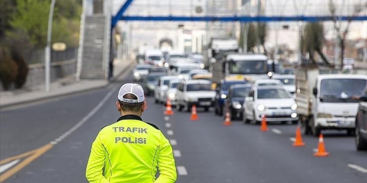
M 220 83 L 227 77 L 242 75 L 247 79 L 269 79 L 268 57 L 262 54 L 225 53 L 211 64 L 212 81 Z

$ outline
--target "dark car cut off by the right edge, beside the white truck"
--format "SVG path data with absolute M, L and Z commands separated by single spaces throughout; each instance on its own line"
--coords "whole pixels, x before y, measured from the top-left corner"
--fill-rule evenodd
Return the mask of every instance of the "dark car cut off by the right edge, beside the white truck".
M 367 89 L 359 98 L 355 134 L 357 150 L 367 150 Z

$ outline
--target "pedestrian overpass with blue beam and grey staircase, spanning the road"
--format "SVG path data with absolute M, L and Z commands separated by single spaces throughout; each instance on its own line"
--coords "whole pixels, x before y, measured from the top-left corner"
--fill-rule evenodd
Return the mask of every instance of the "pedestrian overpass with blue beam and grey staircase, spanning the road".
M 114 35 L 120 20 L 210 23 L 367 20 L 367 4 L 359 14 L 355 14 L 354 4 L 335 4 L 332 16 L 325 4 L 320 9 L 320 4 L 309 1 L 312 0 L 190 0 L 175 5 L 174 0 L 83 0 L 77 79 L 108 79 L 112 74 Z

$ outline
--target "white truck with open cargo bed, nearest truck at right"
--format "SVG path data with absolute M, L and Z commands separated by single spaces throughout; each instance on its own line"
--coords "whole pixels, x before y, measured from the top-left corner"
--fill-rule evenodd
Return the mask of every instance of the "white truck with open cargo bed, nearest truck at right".
M 302 129 L 316 137 L 327 129 L 347 130 L 351 135 L 367 75 L 327 73 L 334 72 L 317 66 L 295 69 L 295 100 Z

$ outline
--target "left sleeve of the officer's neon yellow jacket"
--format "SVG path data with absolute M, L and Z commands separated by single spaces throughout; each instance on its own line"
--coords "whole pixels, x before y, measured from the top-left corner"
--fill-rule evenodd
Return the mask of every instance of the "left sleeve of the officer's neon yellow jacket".
M 103 176 L 103 167 L 105 166 L 105 147 L 101 142 L 101 134 L 92 143 L 91 154 L 88 159 L 86 178 L 90 183 L 108 183 Z

